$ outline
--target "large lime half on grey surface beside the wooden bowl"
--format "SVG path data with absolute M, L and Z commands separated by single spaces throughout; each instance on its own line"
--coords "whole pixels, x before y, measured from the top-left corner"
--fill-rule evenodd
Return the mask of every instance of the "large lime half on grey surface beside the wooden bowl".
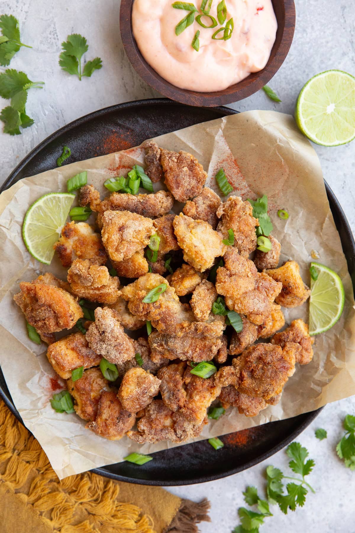
M 355 78 L 326 70 L 304 85 L 296 102 L 301 132 L 322 146 L 339 146 L 355 138 Z

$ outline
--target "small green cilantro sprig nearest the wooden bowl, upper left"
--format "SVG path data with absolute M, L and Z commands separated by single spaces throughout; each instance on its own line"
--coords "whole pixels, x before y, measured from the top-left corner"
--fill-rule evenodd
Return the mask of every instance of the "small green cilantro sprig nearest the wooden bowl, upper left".
M 63 52 L 59 56 L 59 64 L 62 70 L 78 76 L 81 80 L 82 76 L 90 77 L 94 70 L 101 69 L 101 58 L 87 61 L 84 64 L 84 69 L 82 69 L 81 58 L 87 52 L 88 47 L 85 37 L 80 34 L 68 35 L 67 41 L 62 43 Z

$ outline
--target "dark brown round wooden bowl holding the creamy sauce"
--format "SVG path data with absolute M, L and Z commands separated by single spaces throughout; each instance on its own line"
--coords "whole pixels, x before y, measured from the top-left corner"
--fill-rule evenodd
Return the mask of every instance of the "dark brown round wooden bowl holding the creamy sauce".
M 133 36 L 131 13 L 134 0 L 121 0 L 120 30 L 122 43 L 129 61 L 144 81 L 171 100 L 188 104 L 189 106 L 213 107 L 243 100 L 256 93 L 276 74 L 284 62 L 290 46 L 295 28 L 296 12 L 293 0 L 272 0 L 277 19 L 276 39 L 271 50 L 269 61 L 265 68 L 250 74 L 241 82 L 227 87 L 223 91 L 202 93 L 181 89 L 162 78 L 150 64 L 146 62 L 138 49 Z

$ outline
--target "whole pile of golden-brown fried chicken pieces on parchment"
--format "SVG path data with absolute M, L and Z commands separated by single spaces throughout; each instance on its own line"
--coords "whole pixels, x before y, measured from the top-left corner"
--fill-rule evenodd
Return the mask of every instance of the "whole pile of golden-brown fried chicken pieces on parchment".
M 313 356 L 301 319 L 279 331 L 285 325 L 282 307 L 302 305 L 310 290 L 295 261 L 278 266 L 275 237 L 269 236 L 269 252 L 256 249 L 259 221 L 249 201 L 230 196 L 222 203 L 204 187 L 207 173 L 187 152 L 152 141 L 145 149 L 145 173 L 168 190 L 112 192 L 101 200 L 92 185 L 84 185 L 79 204 L 97 213 L 98 230 L 86 222 L 65 224 L 55 250 L 69 267 L 67 281 L 49 273 L 23 281 L 14 300 L 48 344 L 48 360 L 67 380 L 88 429 L 111 440 L 127 434 L 141 443 L 183 442 L 200 434 L 212 402 L 255 416 L 279 401 L 295 365 Z M 175 200 L 185 203 L 179 215 L 169 214 Z M 230 229 L 234 245 L 223 243 Z M 150 262 L 145 249 L 153 235 L 160 246 L 158 259 Z M 221 258 L 224 266 L 209 281 Z M 117 276 L 110 275 L 111 266 Z M 166 290 L 145 303 L 160 284 Z M 240 333 L 212 312 L 218 296 L 240 314 Z M 84 323 L 86 335 L 56 340 L 56 332 L 83 317 L 79 298 L 97 304 L 95 321 Z M 148 336 L 146 321 L 153 327 Z M 135 330 L 137 338 L 126 333 Z M 103 376 L 102 358 L 117 366 L 117 381 Z M 191 374 L 196 363 L 212 360 L 217 372 L 211 377 Z M 72 370 L 81 366 L 82 377 L 72 381 Z

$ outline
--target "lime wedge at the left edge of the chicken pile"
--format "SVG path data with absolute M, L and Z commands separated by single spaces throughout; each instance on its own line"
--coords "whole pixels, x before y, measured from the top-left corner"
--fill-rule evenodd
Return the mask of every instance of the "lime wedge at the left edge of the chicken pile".
M 22 225 L 24 244 L 31 255 L 49 265 L 53 259 L 53 245 L 59 239 L 69 215 L 75 195 L 69 192 L 50 192 L 41 196 L 28 209 Z

